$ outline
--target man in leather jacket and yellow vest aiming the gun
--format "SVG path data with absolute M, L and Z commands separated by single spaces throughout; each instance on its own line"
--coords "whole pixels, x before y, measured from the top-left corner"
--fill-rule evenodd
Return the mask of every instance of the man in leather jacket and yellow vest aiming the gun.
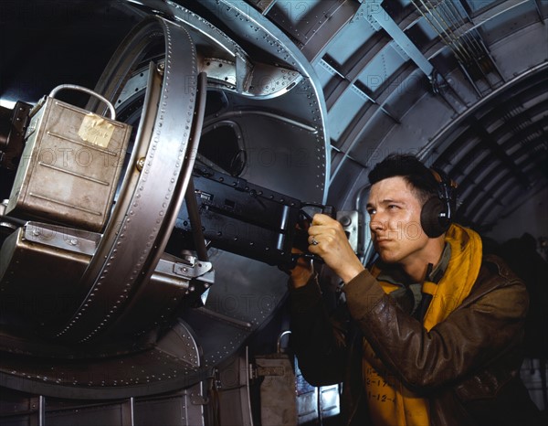
M 308 229 L 309 250 L 342 279 L 346 304 L 328 317 L 311 264 L 291 271 L 304 378 L 343 383 L 344 424 L 536 424 L 519 378 L 522 282 L 482 256 L 476 232 L 449 224 L 450 184 L 416 157 L 389 155 L 369 179 L 371 271 L 336 220 L 316 215 Z

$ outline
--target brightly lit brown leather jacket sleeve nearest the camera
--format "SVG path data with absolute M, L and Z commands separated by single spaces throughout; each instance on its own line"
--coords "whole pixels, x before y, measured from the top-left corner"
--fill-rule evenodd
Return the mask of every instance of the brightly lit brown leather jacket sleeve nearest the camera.
M 427 392 L 487 366 L 521 343 L 527 292 L 519 280 L 500 278 L 498 284 L 479 279 L 475 295 L 429 332 L 401 311 L 369 272 L 360 273 L 344 291 L 350 314 L 385 366 L 410 389 Z

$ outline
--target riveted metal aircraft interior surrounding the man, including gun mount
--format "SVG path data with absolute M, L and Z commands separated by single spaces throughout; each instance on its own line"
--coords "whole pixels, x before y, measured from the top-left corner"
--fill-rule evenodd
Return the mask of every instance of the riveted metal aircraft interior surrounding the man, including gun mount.
M 455 180 L 455 220 L 526 283 L 547 408 L 548 2 L 8 0 L 0 21 L 3 425 L 338 424 L 285 271 L 315 213 L 372 260 L 391 153 Z

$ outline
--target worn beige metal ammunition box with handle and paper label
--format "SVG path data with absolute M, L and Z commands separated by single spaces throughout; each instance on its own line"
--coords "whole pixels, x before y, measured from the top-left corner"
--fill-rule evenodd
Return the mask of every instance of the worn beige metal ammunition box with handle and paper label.
M 58 101 L 52 94 L 31 116 L 5 214 L 102 229 L 132 127 Z

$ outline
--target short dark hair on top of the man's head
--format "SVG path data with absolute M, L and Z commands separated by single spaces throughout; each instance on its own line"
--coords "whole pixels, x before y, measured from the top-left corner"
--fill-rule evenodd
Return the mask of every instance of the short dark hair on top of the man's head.
M 374 166 L 368 177 L 369 183 L 374 185 L 395 176 L 403 177 L 423 203 L 431 197 L 437 197 L 436 178 L 415 155 L 388 154 L 383 161 Z

